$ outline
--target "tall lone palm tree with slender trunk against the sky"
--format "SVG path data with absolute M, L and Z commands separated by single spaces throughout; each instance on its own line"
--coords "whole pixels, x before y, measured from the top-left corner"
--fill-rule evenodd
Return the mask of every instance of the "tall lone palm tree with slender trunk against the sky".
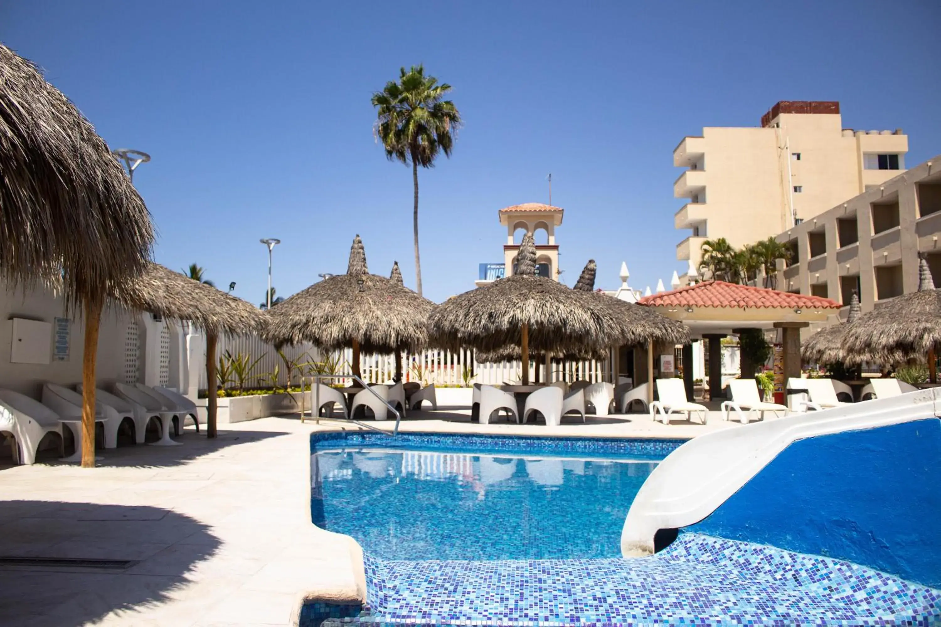
M 439 152 L 451 156 L 461 117 L 455 103 L 444 100 L 451 91 L 439 85 L 434 76 L 425 76 L 424 67 L 412 66 L 399 72 L 399 82 L 390 81 L 373 94 L 377 109 L 375 135 L 390 161 L 412 166 L 415 208 L 412 228 L 415 234 L 415 284 L 422 295 L 422 262 L 418 250 L 418 166 L 433 167 Z

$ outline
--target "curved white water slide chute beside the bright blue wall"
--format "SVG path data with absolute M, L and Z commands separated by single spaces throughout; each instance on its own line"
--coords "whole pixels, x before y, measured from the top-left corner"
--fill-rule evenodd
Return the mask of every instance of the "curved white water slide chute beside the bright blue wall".
M 624 522 L 621 553 L 652 554 L 659 529 L 703 520 L 792 442 L 938 416 L 941 388 L 932 388 L 696 437 L 667 456 L 644 482 Z

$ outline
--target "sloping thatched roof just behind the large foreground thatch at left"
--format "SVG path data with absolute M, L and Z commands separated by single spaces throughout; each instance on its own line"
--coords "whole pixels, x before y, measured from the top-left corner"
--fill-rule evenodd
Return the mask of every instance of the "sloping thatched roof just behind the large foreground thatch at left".
M 143 273 L 112 288 L 109 295 L 122 306 L 192 321 L 215 335 L 242 335 L 263 328 L 263 314 L 255 306 L 158 263 L 148 264 Z

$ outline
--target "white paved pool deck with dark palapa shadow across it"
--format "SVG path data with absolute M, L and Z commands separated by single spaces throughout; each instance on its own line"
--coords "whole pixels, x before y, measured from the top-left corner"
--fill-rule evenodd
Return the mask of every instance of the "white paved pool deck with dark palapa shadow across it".
M 391 429 L 393 423 L 373 423 Z M 467 410 L 411 412 L 402 431 L 690 438 L 736 428 L 648 415 L 587 424 L 470 423 Z M 358 429 L 297 415 L 192 428 L 181 447 L 100 451 L 95 469 L 0 468 L 0 556 L 136 560 L 124 571 L 0 565 L 0 624 L 290 625 L 305 596 L 356 601 L 357 545 L 311 524 L 311 431 Z

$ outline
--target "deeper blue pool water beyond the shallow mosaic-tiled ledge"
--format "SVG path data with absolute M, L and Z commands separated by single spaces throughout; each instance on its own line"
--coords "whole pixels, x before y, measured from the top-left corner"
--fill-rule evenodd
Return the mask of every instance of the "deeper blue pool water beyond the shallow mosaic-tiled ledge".
M 681 443 L 316 435 L 311 519 L 381 559 L 616 557 L 634 495 Z

